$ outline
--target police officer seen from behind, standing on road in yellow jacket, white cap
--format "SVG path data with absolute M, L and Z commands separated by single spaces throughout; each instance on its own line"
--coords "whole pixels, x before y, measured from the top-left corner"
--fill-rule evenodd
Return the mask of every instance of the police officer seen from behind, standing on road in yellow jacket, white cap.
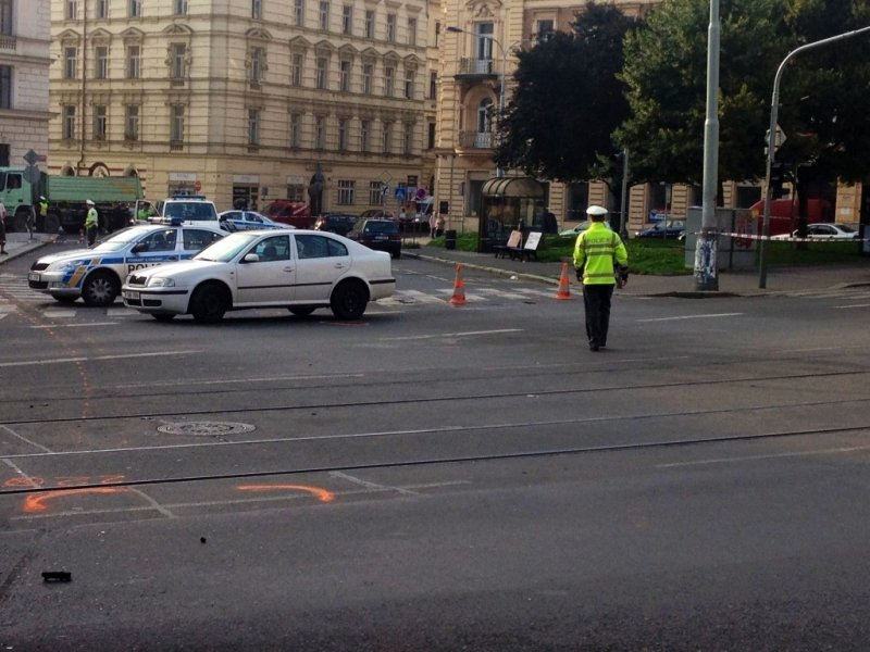
M 629 279 L 629 253 L 620 237 L 605 225 L 607 209 L 591 205 L 586 215 L 592 224 L 577 236 L 574 269 L 577 280 L 583 283 L 589 350 L 598 351 L 607 347 L 613 286 L 619 283 L 623 287 Z

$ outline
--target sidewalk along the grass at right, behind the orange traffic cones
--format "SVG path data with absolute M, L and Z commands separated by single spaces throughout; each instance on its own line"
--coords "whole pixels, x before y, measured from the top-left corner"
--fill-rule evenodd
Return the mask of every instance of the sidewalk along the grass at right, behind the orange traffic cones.
M 407 241 L 406 241 L 407 242 Z M 420 242 L 427 242 L 421 238 Z M 430 247 L 422 243 L 420 249 L 402 249 L 402 255 L 419 258 L 448 265 L 461 263 L 471 269 L 481 269 L 502 276 L 517 276 L 529 280 L 559 285 L 562 272 L 561 263 L 539 263 L 535 261 L 522 262 L 495 258 L 492 253 L 474 253 L 469 251 L 446 250 L 439 247 Z M 631 261 L 629 261 L 631 267 Z M 572 286 L 577 286 L 573 265 L 568 266 L 569 280 Z M 622 294 L 638 297 L 686 297 L 686 298 L 714 298 L 714 297 L 755 297 L 770 296 L 784 292 L 831 290 L 848 287 L 870 286 L 870 259 L 867 262 L 844 265 L 820 265 L 801 267 L 773 267 L 768 268 L 767 287 L 760 289 L 757 269 L 749 271 L 721 271 L 718 276 L 718 291 L 698 291 L 695 289 L 695 277 L 692 274 L 683 276 L 648 276 L 632 274 L 629 285 Z

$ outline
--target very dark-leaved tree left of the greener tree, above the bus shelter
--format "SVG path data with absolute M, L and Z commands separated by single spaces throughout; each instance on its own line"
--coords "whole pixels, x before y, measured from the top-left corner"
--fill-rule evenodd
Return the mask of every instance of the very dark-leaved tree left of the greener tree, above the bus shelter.
M 519 53 L 517 88 L 498 126 L 500 167 L 561 181 L 594 176 L 599 156 L 616 151 L 613 128 L 629 115 L 617 74 L 633 24 L 614 5 L 589 1 L 572 33 Z

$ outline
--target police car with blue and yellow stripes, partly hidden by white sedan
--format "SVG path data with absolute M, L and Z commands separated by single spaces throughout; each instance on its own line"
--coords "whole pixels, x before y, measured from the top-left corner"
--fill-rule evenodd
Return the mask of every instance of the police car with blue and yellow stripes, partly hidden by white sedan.
M 177 224 L 132 226 L 94 249 L 47 255 L 30 265 L 27 283 L 61 303 L 79 297 L 87 305 L 114 303 L 127 274 L 194 258 L 227 233 L 215 226 Z

